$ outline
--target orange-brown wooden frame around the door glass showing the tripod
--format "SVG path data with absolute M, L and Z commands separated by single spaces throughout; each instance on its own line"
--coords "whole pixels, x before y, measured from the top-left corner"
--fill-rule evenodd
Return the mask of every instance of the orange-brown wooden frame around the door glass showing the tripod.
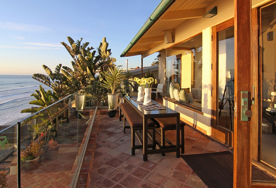
M 228 144 L 229 146 L 234 145 L 234 132 L 226 129 L 220 125 L 217 125 L 218 122 L 218 67 L 217 67 L 217 32 L 220 32 L 224 29 L 234 26 L 234 18 L 231 18 L 219 25 L 215 25 L 212 28 L 212 136 L 218 140 Z M 234 115 L 234 114 L 233 114 Z

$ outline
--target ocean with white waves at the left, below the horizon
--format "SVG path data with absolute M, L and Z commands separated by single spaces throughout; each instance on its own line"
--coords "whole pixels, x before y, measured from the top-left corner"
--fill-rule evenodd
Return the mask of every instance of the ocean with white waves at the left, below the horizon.
M 35 100 L 30 95 L 36 93 L 39 85 L 49 90 L 31 75 L 0 75 L 0 125 L 14 125 L 30 115 L 20 112 L 36 106 L 28 103 Z

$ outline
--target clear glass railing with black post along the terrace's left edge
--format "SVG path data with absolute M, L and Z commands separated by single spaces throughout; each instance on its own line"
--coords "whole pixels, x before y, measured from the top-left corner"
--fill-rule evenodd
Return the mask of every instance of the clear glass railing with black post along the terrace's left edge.
M 30 114 L 16 125 L 0 128 L 0 176 L 6 176 L 9 187 L 71 185 L 70 175 L 81 168 L 94 107 L 105 103 L 96 91 L 86 88 Z

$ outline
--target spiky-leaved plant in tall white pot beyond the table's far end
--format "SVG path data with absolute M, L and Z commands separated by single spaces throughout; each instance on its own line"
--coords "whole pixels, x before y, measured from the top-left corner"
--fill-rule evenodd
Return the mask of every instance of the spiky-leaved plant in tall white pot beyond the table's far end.
M 109 71 L 105 72 L 104 78 L 102 79 L 102 86 L 111 91 L 108 95 L 109 109 L 116 109 L 117 113 L 118 95 L 115 94 L 115 92 L 122 79 L 125 77 L 125 73 L 117 67 L 109 67 L 108 70 Z

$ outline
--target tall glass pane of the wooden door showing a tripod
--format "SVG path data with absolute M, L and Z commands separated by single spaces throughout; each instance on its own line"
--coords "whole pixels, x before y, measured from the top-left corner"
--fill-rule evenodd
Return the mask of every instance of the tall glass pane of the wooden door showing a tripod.
M 218 124 L 234 128 L 234 27 L 217 33 Z

